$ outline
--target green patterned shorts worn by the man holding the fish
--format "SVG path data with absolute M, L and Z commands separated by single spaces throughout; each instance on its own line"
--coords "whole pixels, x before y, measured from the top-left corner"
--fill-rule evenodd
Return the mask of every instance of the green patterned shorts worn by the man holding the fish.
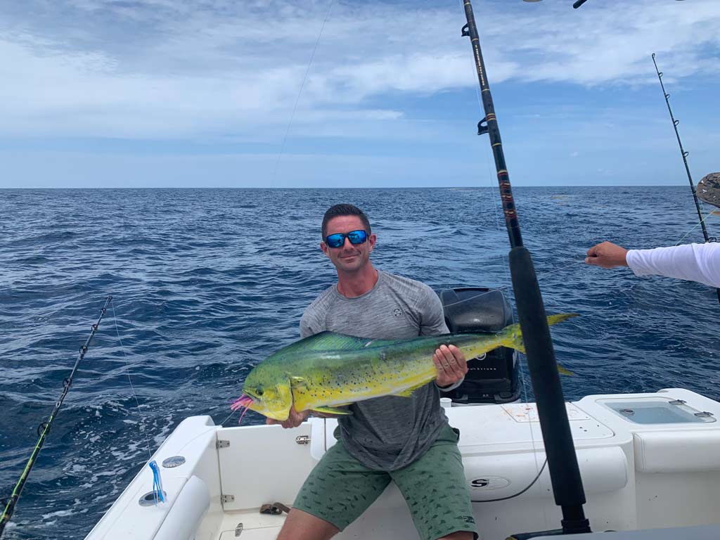
M 419 459 L 390 472 L 368 469 L 338 441 L 312 469 L 293 508 L 342 531 L 392 481 L 408 503 L 421 540 L 436 540 L 455 531 L 471 531 L 477 539 L 457 440 L 456 433 L 446 426 Z

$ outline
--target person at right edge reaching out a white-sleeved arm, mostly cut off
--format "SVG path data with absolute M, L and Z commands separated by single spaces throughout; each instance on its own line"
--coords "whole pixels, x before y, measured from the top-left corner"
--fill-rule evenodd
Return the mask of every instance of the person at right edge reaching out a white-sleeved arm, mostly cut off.
M 720 173 L 704 176 L 696 194 L 698 199 L 720 207 Z M 601 242 L 588 249 L 585 263 L 600 268 L 629 266 L 636 276 L 655 274 L 720 287 L 720 244 L 716 242 L 630 250 Z

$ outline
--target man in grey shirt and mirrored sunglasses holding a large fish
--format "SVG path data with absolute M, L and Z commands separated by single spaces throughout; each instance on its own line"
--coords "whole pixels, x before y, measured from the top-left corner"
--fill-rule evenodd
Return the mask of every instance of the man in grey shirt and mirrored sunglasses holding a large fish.
M 359 208 L 330 207 L 322 230 L 320 248 L 335 266 L 338 283 L 305 310 L 303 338 L 323 330 L 376 339 L 449 332 L 441 302 L 430 287 L 374 268 L 370 253 L 377 238 Z M 391 481 L 405 497 L 420 539 L 477 538 L 458 437 L 447 423 L 438 393 L 462 382 L 467 362 L 452 345 L 438 348 L 433 362 L 436 381 L 412 397 L 355 403 L 352 415 L 338 418 L 338 442 L 305 480 L 279 540 L 330 539 Z M 292 409 L 282 426 L 299 426 L 308 413 Z

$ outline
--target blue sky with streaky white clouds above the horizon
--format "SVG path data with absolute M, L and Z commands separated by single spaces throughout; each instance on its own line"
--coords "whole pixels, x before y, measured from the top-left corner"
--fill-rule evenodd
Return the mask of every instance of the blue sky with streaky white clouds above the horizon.
M 474 0 L 516 186 L 720 171 L 720 1 Z M 460 0 L 0 0 L 0 188 L 496 183 Z

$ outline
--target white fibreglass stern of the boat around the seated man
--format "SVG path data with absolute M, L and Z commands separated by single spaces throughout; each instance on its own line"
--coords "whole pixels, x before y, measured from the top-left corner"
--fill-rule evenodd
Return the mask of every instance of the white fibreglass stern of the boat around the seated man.
M 686 405 L 669 405 L 672 400 Z M 720 403 L 671 389 L 588 396 L 567 408 L 593 531 L 720 523 Z M 712 416 L 694 414 L 703 411 Z M 534 404 L 454 407 L 446 413 L 460 429 L 474 500 L 505 498 L 531 484 L 545 458 Z M 167 502 L 140 505 L 153 481 L 143 467 L 87 538 L 274 539 L 285 515 L 264 515 L 259 508 L 292 505 L 310 469 L 334 443 L 335 425 L 318 418 L 292 430 L 221 428 L 208 416 L 186 418 L 153 456 L 158 464 L 177 455 L 186 460 L 161 467 Z M 310 443 L 298 444 L 302 436 Z M 522 495 L 473 506 L 483 540 L 559 528 L 547 467 Z M 414 540 L 417 533 L 405 501 L 390 485 L 337 538 Z

